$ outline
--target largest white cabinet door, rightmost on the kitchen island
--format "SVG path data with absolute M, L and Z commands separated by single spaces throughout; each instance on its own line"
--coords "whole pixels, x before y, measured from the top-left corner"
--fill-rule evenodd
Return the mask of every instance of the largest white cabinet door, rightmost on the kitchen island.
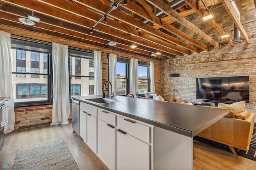
M 150 169 L 150 145 L 117 130 L 116 169 Z

